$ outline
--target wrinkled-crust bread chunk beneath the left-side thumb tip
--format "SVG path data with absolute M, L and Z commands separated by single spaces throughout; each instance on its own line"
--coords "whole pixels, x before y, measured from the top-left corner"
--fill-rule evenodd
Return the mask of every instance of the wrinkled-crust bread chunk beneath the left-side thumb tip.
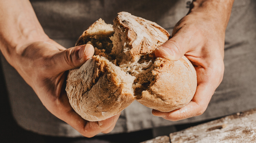
M 99 121 L 117 115 L 135 100 L 133 80 L 107 59 L 93 56 L 69 71 L 66 91 L 75 112 L 86 120 Z

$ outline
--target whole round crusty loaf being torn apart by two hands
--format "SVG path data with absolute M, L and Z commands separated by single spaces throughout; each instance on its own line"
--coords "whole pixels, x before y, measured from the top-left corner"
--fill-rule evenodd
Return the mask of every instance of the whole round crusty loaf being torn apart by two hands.
M 193 98 L 197 78 L 190 61 L 154 57 L 170 38 L 158 24 L 118 13 L 111 24 L 99 19 L 79 37 L 76 46 L 90 43 L 95 56 L 70 70 L 66 91 L 74 110 L 84 119 L 99 121 L 120 113 L 135 99 L 169 112 Z

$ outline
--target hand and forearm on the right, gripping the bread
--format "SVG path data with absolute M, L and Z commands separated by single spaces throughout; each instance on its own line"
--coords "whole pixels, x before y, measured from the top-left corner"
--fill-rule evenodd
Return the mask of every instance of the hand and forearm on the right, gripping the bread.
M 155 55 L 179 60 L 185 55 L 197 72 L 197 90 L 190 103 L 171 112 L 153 110 L 155 116 L 181 120 L 203 114 L 224 74 L 224 39 L 234 0 L 193 0 L 188 14 L 172 32 L 172 38 Z

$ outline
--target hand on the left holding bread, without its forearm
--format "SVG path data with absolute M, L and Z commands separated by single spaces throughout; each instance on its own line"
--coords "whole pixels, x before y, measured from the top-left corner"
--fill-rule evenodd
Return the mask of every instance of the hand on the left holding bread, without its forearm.
M 65 91 L 68 70 L 77 68 L 94 54 L 92 45 L 66 49 L 53 40 L 24 45 L 14 67 L 33 88 L 44 106 L 79 133 L 92 137 L 113 130 L 119 115 L 91 122 L 81 118 L 71 107 Z

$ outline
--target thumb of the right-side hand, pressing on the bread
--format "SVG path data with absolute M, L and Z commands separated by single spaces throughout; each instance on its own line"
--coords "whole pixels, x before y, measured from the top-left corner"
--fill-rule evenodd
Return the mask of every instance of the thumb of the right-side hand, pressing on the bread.
M 177 61 L 187 52 L 184 42 L 180 36 L 172 37 L 155 50 L 155 56 Z

